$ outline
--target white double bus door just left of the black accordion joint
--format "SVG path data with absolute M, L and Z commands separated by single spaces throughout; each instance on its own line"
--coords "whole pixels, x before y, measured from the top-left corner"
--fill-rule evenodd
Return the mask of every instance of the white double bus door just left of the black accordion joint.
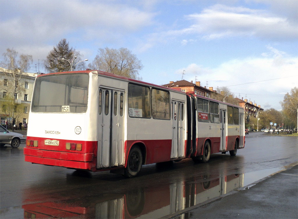
M 185 103 L 172 100 L 172 152 L 171 158 L 184 157 L 184 111 Z

